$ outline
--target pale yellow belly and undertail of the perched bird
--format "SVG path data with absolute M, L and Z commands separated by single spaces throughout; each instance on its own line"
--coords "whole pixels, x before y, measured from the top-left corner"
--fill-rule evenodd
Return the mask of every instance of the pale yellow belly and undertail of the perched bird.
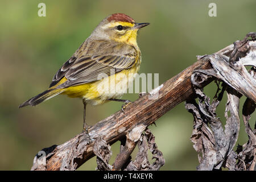
M 139 67 L 125 69 L 99 81 L 70 86 L 61 94 L 67 94 L 69 97 L 85 98 L 86 102 L 92 105 L 103 104 L 109 98 L 122 97 L 123 93 L 127 92 L 129 85 L 133 84 L 138 69 Z

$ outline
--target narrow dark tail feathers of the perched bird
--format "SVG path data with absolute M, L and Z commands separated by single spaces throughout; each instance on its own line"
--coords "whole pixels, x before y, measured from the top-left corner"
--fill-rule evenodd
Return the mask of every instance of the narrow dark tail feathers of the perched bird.
M 31 105 L 31 106 L 38 105 L 41 102 L 46 101 L 49 98 L 56 96 L 57 94 L 60 94 L 61 92 L 64 92 L 64 89 L 48 89 L 38 94 L 37 96 L 32 97 L 30 100 L 23 102 L 22 104 L 19 105 L 19 108 L 28 106 L 28 105 Z

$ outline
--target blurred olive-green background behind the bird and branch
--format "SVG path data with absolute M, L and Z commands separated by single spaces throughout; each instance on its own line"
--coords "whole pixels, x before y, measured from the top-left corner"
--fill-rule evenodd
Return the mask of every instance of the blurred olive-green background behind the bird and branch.
M 38 3 L 46 3 L 46 17 Z M 208 15 L 217 4 L 217 17 Z M 125 13 L 150 22 L 138 35 L 142 51 L 140 73 L 159 73 L 159 84 L 195 63 L 196 55 L 216 52 L 256 31 L 256 1 L 1 1 L 0 6 L 0 169 L 29 170 L 38 151 L 61 144 L 81 132 L 79 99 L 57 96 L 36 107 L 19 104 L 48 88 L 53 75 L 107 15 Z M 205 88 L 213 97 L 216 85 Z M 136 100 L 138 94 L 123 98 Z M 242 98 L 244 101 L 245 98 Z M 224 119 L 225 101 L 218 107 Z M 87 107 L 89 125 L 121 108 L 109 102 Z M 256 115 L 252 115 L 254 125 Z M 184 103 L 150 126 L 166 159 L 162 170 L 195 170 L 197 154 L 189 140 L 193 117 Z M 238 143 L 247 142 L 241 122 Z M 112 146 L 111 163 L 119 151 Z M 135 156 L 135 154 L 133 154 Z M 80 170 L 94 170 L 96 158 Z

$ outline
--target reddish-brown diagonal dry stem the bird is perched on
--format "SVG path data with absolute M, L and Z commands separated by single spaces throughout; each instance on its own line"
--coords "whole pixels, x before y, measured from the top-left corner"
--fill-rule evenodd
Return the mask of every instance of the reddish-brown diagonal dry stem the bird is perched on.
M 230 45 L 217 53 L 228 56 L 233 52 L 233 49 L 234 46 Z M 152 90 L 152 92 L 138 98 L 138 100 L 128 105 L 125 109 L 125 114 L 122 111 L 118 111 L 92 126 L 89 129 L 90 138 L 92 140 L 89 140 L 87 134 L 81 133 L 59 146 L 44 149 L 43 151 L 46 153 L 43 165 L 40 162 L 41 160 L 39 160 L 42 158 L 36 156 L 32 170 L 77 169 L 85 163 L 86 160 L 94 156 L 93 148 L 98 138 L 104 139 L 108 144 L 113 144 L 117 142 L 117 140 L 122 140 L 135 127 L 140 126 L 146 129 L 147 126 L 154 123 L 156 119 L 160 118 L 177 104 L 180 104 L 180 102 L 192 99 L 196 96 L 191 84 L 191 75 L 196 70 L 210 68 L 212 67 L 209 61 L 197 61 L 183 72 Z M 197 79 L 200 79 L 200 77 L 197 77 Z M 206 81 L 198 81 L 200 82 L 200 86 L 205 86 L 212 80 L 212 77 L 207 77 Z M 250 98 L 253 99 L 253 97 Z M 121 158 L 125 159 L 129 157 L 128 155 L 120 155 Z M 108 156 L 106 156 L 106 158 L 105 156 L 102 157 L 103 162 L 107 159 Z M 122 165 L 123 164 L 119 164 L 118 161 L 114 164 L 117 169 Z

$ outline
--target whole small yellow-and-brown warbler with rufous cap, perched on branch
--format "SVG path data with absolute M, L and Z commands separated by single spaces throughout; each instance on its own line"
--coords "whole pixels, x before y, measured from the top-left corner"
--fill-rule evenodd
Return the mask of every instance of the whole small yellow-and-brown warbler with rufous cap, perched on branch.
M 137 33 L 148 24 L 135 23 L 133 18 L 122 13 L 106 17 L 57 71 L 49 88 L 23 102 L 19 108 L 38 105 L 58 94 L 80 97 L 84 104 L 83 131 L 88 133 L 86 104 L 120 101 L 125 103 L 122 110 L 130 104 L 129 100 L 119 98 L 139 71 L 141 51 L 137 44 Z

